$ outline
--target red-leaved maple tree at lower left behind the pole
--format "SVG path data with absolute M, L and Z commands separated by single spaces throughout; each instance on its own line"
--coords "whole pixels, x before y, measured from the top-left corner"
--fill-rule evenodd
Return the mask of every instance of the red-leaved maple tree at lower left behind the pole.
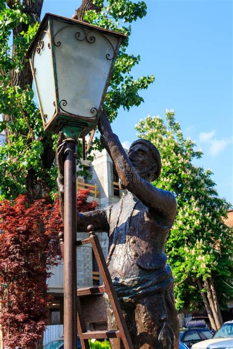
M 77 209 L 94 210 L 89 191 L 79 190 Z M 0 324 L 7 348 L 35 348 L 45 328 L 46 279 L 59 263 L 58 233 L 63 230 L 58 200 L 37 200 L 29 206 L 25 195 L 0 203 Z

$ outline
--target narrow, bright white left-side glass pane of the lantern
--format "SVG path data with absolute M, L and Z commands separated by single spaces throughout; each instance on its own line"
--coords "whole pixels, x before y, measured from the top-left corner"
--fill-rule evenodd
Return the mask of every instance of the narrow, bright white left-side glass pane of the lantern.
M 43 31 L 32 56 L 37 97 L 45 122 L 55 113 L 55 83 L 49 35 Z

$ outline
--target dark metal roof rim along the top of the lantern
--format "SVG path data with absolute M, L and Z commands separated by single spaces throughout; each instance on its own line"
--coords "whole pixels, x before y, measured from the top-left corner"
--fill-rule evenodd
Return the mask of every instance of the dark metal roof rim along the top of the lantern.
M 101 27 L 97 27 L 97 26 L 93 26 L 89 23 L 86 23 L 86 22 L 82 22 L 82 21 L 78 21 L 78 20 L 75 20 L 75 19 L 71 19 L 71 18 L 68 18 L 68 17 L 62 17 L 62 16 L 58 16 L 58 15 L 54 15 L 52 13 L 46 13 L 43 20 L 41 21 L 40 23 L 40 26 L 29 46 L 29 49 L 26 53 L 26 58 L 29 58 L 29 55 L 31 53 L 31 51 L 33 50 L 33 47 L 35 45 L 35 43 L 37 43 L 38 41 L 38 38 L 40 36 L 40 33 L 42 30 L 44 30 L 44 28 L 46 27 L 47 25 L 47 22 L 49 19 L 55 19 L 57 21 L 60 21 L 60 22 L 63 22 L 63 23 L 68 23 L 68 24 L 74 24 L 74 25 L 79 25 L 81 27 L 84 27 L 84 28 L 87 28 L 87 29 L 91 29 L 91 30 L 98 30 L 100 31 L 102 34 L 108 34 L 108 35 L 112 35 L 112 36 L 115 36 L 115 37 L 118 37 L 118 38 L 121 38 L 122 41 L 124 41 L 126 38 L 127 38 L 127 35 L 125 34 L 122 34 L 122 33 L 119 33 L 117 31 L 114 31 L 114 30 L 107 30 L 107 29 L 104 29 L 104 28 L 101 28 Z

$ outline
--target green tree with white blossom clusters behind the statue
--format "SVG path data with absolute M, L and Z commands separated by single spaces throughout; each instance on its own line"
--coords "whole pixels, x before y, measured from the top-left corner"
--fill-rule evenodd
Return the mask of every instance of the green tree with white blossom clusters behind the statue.
M 223 221 L 230 205 L 218 197 L 211 171 L 192 163 L 202 152 L 183 137 L 175 113 L 167 111 L 166 119 L 168 125 L 160 117 L 148 116 L 136 130 L 160 151 L 163 167 L 156 187 L 174 192 L 177 199 L 177 216 L 166 245 L 175 275 L 176 306 L 197 308 L 202 299 L 211 326 L 218 329 L 220 306 L 226 306 L 232 295 L 231 229 Z

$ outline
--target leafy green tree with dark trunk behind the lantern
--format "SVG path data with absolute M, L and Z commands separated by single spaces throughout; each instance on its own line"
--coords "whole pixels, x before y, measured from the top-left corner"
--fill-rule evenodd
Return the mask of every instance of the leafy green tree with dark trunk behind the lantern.
M 7 142 L 0 148 L 0 191 L 3 198 L 27 193 L 32 202 L 57 191 L 54 166 L 57 136 L 43 131 L 30 77 L 23 82 L 19 78 L 25 75 L 28 64 L 25 53 L 38 28 L 37 17 L 29 14 L 27 2 L 30 1 L 0 0 L 0 113 L 4 116 L 0 132 L 5 130 L 7 134 Z M 146 15 L 144 1 L 109 0 L 106 6 L 102 1 L 95 2 L 102 10 L 88 11 L 84 20 L 126 33 L 128 37 L 130 23 Z M 139 106 L 143 102 L 140 90 L 154 81 L 153 76 L 133 78 L 131 70 L 140 62 L 140 56 L 126 53 L 128 41 L 129 38 L 118 54 L 106 95 L 104 107 L 111 120 L 117 117 L 120 107 Z

